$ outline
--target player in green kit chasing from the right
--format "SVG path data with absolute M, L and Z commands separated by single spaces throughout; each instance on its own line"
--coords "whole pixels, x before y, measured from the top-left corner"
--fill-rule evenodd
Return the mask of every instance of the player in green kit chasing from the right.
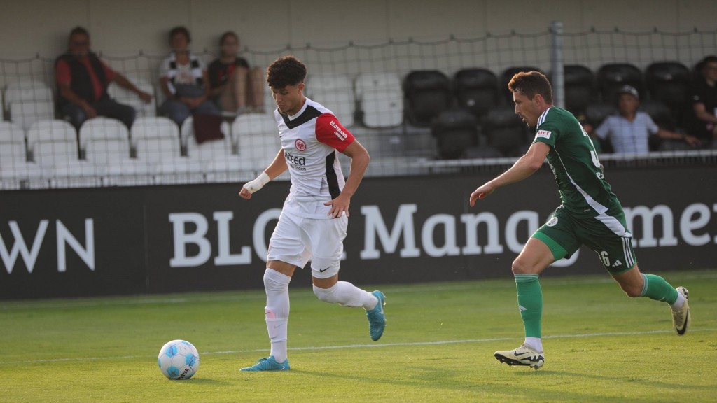
M 675 289 L 660 276 L 640 272 L 622 206 L 610 191 L 592 141 L 580 123 L 568 111 L 553 106 L 550 82 L 540 72 L 514 75 L 508 89 L 513 93 L 516 113 L 528 126 L 536 128 L 536 136 L 528 152 L 510 169 L 470 194 L 470 206 L 500 186 L 528 178 L 541 168 L 545 158 L 555 175 L 561 204 L 513 261 L 526 339 L 517 349 L 495 351 L 495 358 L 533 369 L 545 364 L 541 340 L 543 293 L 538 275 L 556 260 L 572 255 L 580 245 L 597 253 L 628 296 L 670 304 L 675 331 L 683 335 L 690 322 L 688 290 Z

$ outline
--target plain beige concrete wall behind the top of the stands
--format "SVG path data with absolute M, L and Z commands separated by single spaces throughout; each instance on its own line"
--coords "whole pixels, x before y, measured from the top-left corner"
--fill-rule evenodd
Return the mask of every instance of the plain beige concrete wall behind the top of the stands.
M 0 58 L 54 57 L 81 25 L 92 47 L 111 55 L 168 52 L 166 34 L 185 25 L 194 52 L 213 51 L 227 29 L 252 49 L 382 43 L 408 37 L 445 38 L 613 29 L 667 32 L 716 29 L 713 0 L 24 0 L 1 2 Z

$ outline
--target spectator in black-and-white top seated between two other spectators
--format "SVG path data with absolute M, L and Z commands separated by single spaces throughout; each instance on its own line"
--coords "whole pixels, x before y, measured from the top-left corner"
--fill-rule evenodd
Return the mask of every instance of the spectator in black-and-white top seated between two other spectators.
M 191 114 L 221 114 L 209 100 L 206 68 L 199 57 L 189 52 L 190 41 L 189 31 L 185 27 L 174 27 L 169 32 L 172 52 L 159 70 L 161 89 L 167 97 L 159 107 L 159 112 L 180 126 Z

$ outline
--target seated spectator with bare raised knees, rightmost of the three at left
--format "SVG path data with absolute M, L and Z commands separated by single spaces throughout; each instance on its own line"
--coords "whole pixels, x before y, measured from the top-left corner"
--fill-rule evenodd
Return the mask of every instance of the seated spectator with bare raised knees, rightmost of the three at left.
M 209 64 L 210 95 L 227 113 L 263 112 L 264 82 L 259 67 L 250 68 L 239 52 L 239 37 L 228 31 L 219 39 L 219 58 Z

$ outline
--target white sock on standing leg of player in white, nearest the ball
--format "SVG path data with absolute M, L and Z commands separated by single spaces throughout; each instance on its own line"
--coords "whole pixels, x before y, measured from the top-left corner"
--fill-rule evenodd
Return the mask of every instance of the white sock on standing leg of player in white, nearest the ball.
M 267 293 L 267 305 L 264 313 L 267 331 L 271 341 L 271 355 L 278 363 L 286 361 L 286 339 L 289 323 L 289 283 L 291 278 L 276 270 L 264 272 L 264 288 Z

